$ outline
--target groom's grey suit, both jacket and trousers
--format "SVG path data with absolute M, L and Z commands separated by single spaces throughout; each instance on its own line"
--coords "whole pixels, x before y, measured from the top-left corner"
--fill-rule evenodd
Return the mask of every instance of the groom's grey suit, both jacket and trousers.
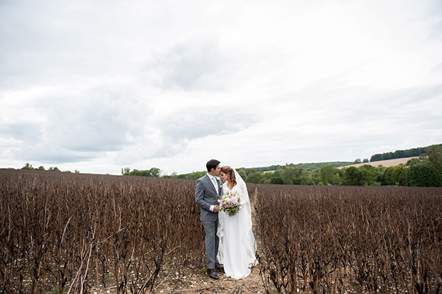
M 220 242 L 217 236 L 218 214 L 210 211 L 210 206 L 218 204 L 217 195 L 221 194 L 221 185 L 222 181 L 217 181 L 218 191 L 216 191 L 212 180 L 205 174 L 204 177 L 197 179 L 195 186 L 195 202 L 201 208 L 200 220 L 205 231 L 207 268 L 215 268 Z

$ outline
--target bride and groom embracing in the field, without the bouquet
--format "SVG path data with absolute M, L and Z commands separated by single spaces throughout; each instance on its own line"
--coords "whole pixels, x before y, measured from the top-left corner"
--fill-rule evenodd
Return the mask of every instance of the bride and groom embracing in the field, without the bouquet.
M 247 186 L 235 169 L 220 167 L 216 159 L 207 162 L 206 167 L 207 174 L 196 182 L 195 202 L 201 208 L 205 231 L 207 274 L 217 280 L 215 269 L 224 268 L 231 278 L 245 278 L 257 264 Z M 218 201 L 227 194 L 239 199 L 240 209 L 232 216 L 220 208 Z

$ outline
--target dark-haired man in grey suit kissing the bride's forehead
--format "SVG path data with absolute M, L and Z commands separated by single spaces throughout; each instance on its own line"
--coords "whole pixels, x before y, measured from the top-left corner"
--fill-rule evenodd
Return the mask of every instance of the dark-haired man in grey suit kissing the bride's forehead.
M 207 174 L 197 179 L 195 187 L 195 202 L 201 208 L 200 220 L 205 231 L 205 253 L 207 257 L 207 273 L 210 278 L 217 280 L 219 277 L 215 273 L 215 268 L 219 268 L 217 263 L 218 243 L 218 206 L 217 195 L 221 195 L 222 181 L 220 177 L 220 162 L 211 159 L 206 164 Z

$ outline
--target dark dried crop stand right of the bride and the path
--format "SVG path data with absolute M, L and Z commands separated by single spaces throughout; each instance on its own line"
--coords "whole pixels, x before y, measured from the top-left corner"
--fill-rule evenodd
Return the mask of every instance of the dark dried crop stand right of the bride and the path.
M 258 185 L 261 274 L 285 293 L 441 293 L 442 189 Z

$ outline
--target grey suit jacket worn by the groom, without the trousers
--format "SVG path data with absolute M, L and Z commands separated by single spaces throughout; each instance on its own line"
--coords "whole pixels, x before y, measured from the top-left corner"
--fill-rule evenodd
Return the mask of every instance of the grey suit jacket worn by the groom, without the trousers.
M 218 204 L 217 195 L 221 195 L 222 192 L 221 180 L 217 181 L 217 187 L 218 191 L 215 190 L 215 186 L 207 174 L 197 179 L 195 185 L 195 202 L 201 208 L 201 221 L 216 221 L 218 219 L 218 214 L 210 211 L 210 206 Z

